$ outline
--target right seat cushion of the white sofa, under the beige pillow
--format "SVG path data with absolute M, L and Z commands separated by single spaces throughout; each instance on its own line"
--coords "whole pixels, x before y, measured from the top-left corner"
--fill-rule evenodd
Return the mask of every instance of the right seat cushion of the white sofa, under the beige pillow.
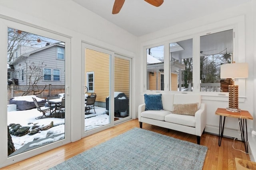
M 168 114 L 164 119 L 166 122 L 196 127 L 196 118 L 191 115 Z

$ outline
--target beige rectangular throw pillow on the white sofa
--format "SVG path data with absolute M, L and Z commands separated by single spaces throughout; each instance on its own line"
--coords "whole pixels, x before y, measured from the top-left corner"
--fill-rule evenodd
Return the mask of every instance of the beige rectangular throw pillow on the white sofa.
M 196 111 L 198 111 L 198 103 L 192 104 L 174 104 L 173 111 L 174 114 L 180 115 L 195 115 Z

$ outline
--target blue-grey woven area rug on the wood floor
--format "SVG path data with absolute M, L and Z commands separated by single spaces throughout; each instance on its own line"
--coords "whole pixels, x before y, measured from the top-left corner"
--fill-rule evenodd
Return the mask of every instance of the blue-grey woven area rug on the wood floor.
M 134 128 L 50 170 L 201 170 L 207 147 Z

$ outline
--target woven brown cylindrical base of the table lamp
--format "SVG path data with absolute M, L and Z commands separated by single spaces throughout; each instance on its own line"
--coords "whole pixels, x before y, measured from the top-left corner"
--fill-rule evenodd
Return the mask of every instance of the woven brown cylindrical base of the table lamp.
M 238 108 L 238 85 L 228 86 L 228 111 L 239 112 L 241 109 Z

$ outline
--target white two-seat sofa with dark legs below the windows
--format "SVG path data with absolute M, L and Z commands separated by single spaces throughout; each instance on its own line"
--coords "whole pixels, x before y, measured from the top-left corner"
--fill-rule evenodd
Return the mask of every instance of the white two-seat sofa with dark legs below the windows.
M 174 114 L 173 104 L 198 103 L 195 115 Z M 197 143 L 200 145 L 200 137 L 206 126 L 206 106 L 201 103 L 199 94 L 162 94 L 163 110 L 146 110 L 146 104 L 138 108 L 138 119 L 140 128 L 142 123 L 148 123 L 184 133 L 196 135 Z

